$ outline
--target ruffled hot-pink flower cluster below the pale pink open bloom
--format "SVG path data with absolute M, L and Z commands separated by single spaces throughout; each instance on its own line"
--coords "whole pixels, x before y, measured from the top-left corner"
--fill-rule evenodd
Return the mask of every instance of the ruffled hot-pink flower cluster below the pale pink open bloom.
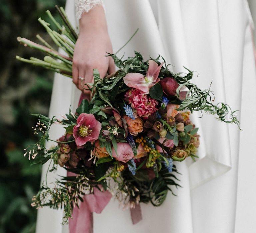
M 138 89 L 131 89 L 125 93 L 125 100 L 131 104 L 135 113 L 144 118 L 148 118 L 151 114 L 155 113 L 158 109 L 157 100 L 150 98 L 148 95 L 143 95 Z

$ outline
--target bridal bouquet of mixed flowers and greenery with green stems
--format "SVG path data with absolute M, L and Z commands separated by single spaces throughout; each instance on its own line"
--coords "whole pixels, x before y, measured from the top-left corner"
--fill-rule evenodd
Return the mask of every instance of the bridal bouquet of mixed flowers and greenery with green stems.
M 60 33 L 39 21 L 67 56 L 38 36 L 45 46 L 24 38 L 18 41 L 50 56 L 44 61 L 17 59 L 71 77 L 77 35 L 64 10 L 57 9 L 64 26 L 47 13 Z M 144 61 L 139 52 L 126 60 L 115 54 L 108 56 L 118 71 L 100 77 L 95 69 L 94 82 L 84 86 L 91 90 L 91 100 L 81 100 L 75 113 L 69 111 L 62 119 L 33 114 L 38 117 L 34 132 L 39 140 L 25 149 L 24 156 L 32 158 L 33 164 L 51 160 L 50 171 L 61 166 L 68 176 L 60 177 L 53 186 L 45 180 L 32 205 L 64 207 L 65 221 L 84 195 L 99 192 L 110 191 L 124 207 L 133 208 L 140 202 L 161 205 L 167 193 L 173 193 L 172 187 L 179 186 L 173 161 L 197 157 L 200 136 L 190 120 L 191 112 L 204 110 L 224 122 L 239 124 L 228 105 L 214 105 L 210 90 L 201 90 L 190 82 L 193 72 L 189 69 L 187 74 L 174 74 L 163 58 L 160 62 L 160 56 Z M 49 138 L 53 124 L 62 124 L 66 130 L 57 140 Z M 54 141 L 55 145 L 46 148 L 45 141 Z

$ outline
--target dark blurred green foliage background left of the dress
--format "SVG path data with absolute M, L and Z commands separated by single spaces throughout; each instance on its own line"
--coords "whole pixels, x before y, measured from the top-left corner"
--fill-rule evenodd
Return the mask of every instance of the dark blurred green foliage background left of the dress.
M 51 41 L 37 19 L 48 20 L 45 11 L 56 14 L 55 5 L 65 0 L 1 0 L 0 4 L 0 233 L 35 232 L 36 209 L 31 198 L 39 189 L 41 167 L 30 166 L 24 148 L 37 138 L 30 113 L 48 115 L 53 73 L 21 63 L 24 58 L 43 54 L 25 48 L 16 38 L 39 42 L 36 34 Z M 53 44 L 51 44 L 54 46 Z

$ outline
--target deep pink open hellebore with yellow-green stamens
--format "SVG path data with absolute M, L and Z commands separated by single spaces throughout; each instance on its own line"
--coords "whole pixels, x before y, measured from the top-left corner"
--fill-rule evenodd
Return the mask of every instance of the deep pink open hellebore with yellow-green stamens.
M 101 123 L 92 114 L 82 113 L 78 116 L 76 125 L 73 128 L 73 136 L 78 146 L 86 142 L 93 142 L 98 139 Z

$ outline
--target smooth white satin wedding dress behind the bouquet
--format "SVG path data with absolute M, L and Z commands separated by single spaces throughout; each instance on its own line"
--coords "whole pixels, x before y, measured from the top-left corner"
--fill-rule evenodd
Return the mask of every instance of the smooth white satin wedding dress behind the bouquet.
M 80 0 L 83 2 L 83 0 Z M 84 1 L 86 2 L 86 1 Z M 256 232 L 256 73 L 249 8 L 243 0 L 105 0 L 105 13 L 113 50 L 117 51 L 139 28 L 130 43 L 117 55 L 144 59 L 163 56 L 174 72 L 183 66 L 197 71 L 193 82 L 214 90 L 215 102 L 228 103 L 241 120 L 234 124 L 217 121 L 203 113 L 193 114 L 200 127 L 199 157 L 176 163 L 182 175 L 178 195 L 169 194 L 160 207 L 141 204 L 143 220 L 132 225 L 129 210 L 111 200 L 101 214 L 93 214 L 95 233 L 240 233 Z M 66 11 L 73 22 L 74 0 Z M 79 91 L 71 79 L 56 74 L 50 116 L 77 107 Z M 51 131 L 55 139 L 61 127 Z M 47 165 L 43 167 L 42 180 Z M 65 174 L 59 169 L 57 174 Z M 48 174 L 48 183 L 57 174 Z M 62 210 L 38 211 L 37 233 L 68 232 L 62 226 Z

